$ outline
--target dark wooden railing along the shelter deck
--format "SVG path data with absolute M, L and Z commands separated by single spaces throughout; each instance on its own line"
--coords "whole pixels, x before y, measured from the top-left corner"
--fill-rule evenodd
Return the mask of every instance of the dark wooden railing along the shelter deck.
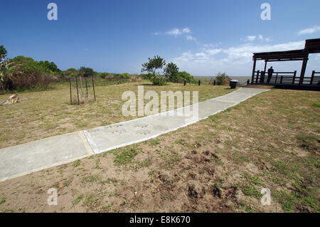
M 252 83 L 265 85 L 320 85 L 320 72 L 312 71 L 311 77 L 304 77 L 300 81 L 297 71 L 274 72 L 269 78 L 267 72 L 257 70 Z

